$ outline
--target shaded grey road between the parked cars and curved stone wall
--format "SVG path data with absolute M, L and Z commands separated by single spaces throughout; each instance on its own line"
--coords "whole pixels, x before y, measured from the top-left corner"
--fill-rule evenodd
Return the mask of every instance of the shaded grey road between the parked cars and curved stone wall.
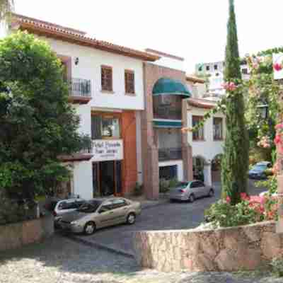
M 265 188 L 255 188 L 253 181 L 250 181 L 249 187 L 250 195 L 265 190 Z M 199 226 L 204 220 L 204 210 L 216 200 L 219 200 L 221 187 L 219 184 L 214 184 L 214 188 L 214 197 L 206 197 L 196 200 L 194 203 L 166 202 L 154 207 L 147 207 L 143 209 L 141 216 L 137 218 L 136 224 L 132 226 L 113 226 L 98 230 L 92 236 L 79 235 L 76 238 L 90 244 L 98 243 L 108 246 L 108 248 L 133 254 L 132 233 L 134 231 L 192 229 Z

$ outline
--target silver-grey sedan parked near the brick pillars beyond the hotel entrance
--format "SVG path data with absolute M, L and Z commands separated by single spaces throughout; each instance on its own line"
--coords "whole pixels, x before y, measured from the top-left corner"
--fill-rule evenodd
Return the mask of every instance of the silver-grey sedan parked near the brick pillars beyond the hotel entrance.
M 180 183 L 170 190 L 170 200 L 188 200 L 194 202 L 199 197 L 213 197 L 214 188 L 206 186 L 202 181 L 193 180 L 191 182 Z

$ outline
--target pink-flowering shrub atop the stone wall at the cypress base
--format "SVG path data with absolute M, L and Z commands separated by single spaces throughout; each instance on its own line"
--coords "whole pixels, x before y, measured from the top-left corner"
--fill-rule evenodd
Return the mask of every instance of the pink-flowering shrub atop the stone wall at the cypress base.
M 231 205 L 229 197 L 212 204 L 204 213 L 205 220 L 216 227 L 231 227 L 277 220 L 277 197 L 249 197 L 241 194 L 241 202 Z

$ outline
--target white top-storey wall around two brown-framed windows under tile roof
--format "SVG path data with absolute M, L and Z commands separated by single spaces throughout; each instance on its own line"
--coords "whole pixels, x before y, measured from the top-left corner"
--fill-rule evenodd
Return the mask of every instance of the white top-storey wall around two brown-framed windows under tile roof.
M 93 99 L 88 105 L 96 108 L 144 110 L 143 65 L 141 60 L 52 38 L 40 38 L 46 40 L 57 54 L 71 57 L 72 77 L 91 80 Z M 79 58 L 78 65 L 74 64 L 76 57 Z M 101 92 L 101 65 L 112 67 L 114 93 Z M 134 71 L 136 96 L 125 95 L 125 69 Z

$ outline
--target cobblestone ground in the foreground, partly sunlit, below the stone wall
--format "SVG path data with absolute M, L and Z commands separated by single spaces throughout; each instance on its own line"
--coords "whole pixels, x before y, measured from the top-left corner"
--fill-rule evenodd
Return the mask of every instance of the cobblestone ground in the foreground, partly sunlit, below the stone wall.
M 54 236 L 45 243 L 0 254 L 1 283 L 279 283 L 229 273 L 140 270 L 134 260 Z

